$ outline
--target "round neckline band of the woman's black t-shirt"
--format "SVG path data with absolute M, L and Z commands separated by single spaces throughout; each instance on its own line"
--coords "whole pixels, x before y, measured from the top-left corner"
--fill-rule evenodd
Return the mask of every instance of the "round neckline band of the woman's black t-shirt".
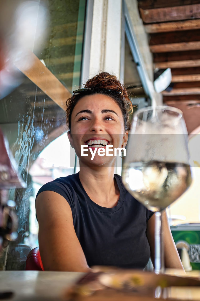
M 83 191 L 83 194 L 85 196 L 85 199 L 86 199 L 86 202 L 95 210 L 99 211 L 99 212 L 102 212 L 102 213 L 108 213 L 108 214 L 111 214 L 111 213 L 114 213 L 116 211 L 118 211 L 121 206 L 123 205 L 123 202 L 124 202 L 124 198 L 125 198 L 125 193 L 124 193 L 124 189 L 123 189 L 123 186 L 122 186 L 122 183 L 120 181 L 120 177 L 119 175 L 116 175 L 114 174 L 114 178 L 117 182 L 117 186 L 119 188 L 119 191 L 120 191 L 120 197 L 119 197 L 119 200 L 118 200 L 118 203 L 116 206 L 114 206 L 113 208 L 107 208 L 107 207 L 102 207 L 102 206 L 99 206 L 98 204 L 96 204 L 93 200 L 90 199 L 90 197 L 88 196 L 88 194 L 86 193 L 85 189 L 83 188 L 83 185 L 81 184 L 80 182 L 80 178 L 79 178 L 79 172 L 77 172 L 77 183 L 80 185 L 82 191 Z

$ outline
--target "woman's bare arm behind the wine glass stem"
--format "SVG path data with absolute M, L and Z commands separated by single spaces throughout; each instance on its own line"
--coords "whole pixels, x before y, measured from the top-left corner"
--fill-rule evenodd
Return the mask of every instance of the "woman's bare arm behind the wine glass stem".
M 166 268 L 183 269 L 177 247 L 174 243 L 170 226 L 168 223 L 167 213 L 163 213 L 163 230 L 164 230 L 164 260 Z M 151 259 L 155 261 L 155 214 L 148 220 L 146 235 L 151 249 Z

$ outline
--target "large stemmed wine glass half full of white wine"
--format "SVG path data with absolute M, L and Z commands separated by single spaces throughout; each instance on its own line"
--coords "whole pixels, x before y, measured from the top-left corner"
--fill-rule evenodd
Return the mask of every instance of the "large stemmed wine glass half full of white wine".
M 155 273 L 164 272 L 162 214 L 192 182 L 183 113 L 168 106 L 133 115 L 122 180 L 133 197 L 155 213 Z

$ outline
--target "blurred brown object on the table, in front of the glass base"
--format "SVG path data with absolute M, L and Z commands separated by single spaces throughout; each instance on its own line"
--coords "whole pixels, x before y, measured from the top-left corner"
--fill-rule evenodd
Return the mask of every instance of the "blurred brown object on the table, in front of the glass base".
M 173 287 L 199 287 L 199 278 L 171 276 L 141 270 L 123 270 L 95 267 L 96 272 L 84 275 L 68 289 L 64 298 L 74 301 L 154 301 L 155 290 L 160 287 L 165 300 Z M 169 298 L 168 299 L 168 295 Z M 159 300 L 164 300 L 162 297 Z M 179 299 L 180 300 L 180 299 Z

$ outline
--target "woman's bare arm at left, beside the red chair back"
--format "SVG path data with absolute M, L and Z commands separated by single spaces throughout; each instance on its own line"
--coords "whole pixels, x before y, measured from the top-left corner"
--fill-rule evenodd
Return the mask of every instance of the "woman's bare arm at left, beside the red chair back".
M 36 198 L 39 251 L 45 271 L 89 272 L 67 200 L 54 191 Z

